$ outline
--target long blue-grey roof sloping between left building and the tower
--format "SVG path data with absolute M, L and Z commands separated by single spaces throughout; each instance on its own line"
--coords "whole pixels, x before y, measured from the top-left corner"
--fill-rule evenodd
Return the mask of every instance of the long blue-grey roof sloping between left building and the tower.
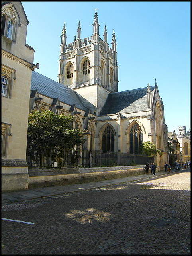
M 86 111 L 80 98 L 78 98 L 76 92 L 63 84 L 59 84 L 54 80 L 33 71 L 31 76 L 31 90 L 38 90 L 39 94 L 47 96 L 49 98 L 59 98 L 60 102 L 68 105 L 74 105 L 76 108 Z

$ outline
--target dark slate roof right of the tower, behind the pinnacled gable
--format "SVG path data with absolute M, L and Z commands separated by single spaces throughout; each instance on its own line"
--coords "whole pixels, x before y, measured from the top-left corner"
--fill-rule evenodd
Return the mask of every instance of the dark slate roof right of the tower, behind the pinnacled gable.
M 153 98 L 155 86 L 151 86 L 150 89 L 151 97 Z M 146 90 L 147 87 L 110 93 L 101 110 L 100 116 L 118 114 L 119 112 L 125 114 L 147 110 Z

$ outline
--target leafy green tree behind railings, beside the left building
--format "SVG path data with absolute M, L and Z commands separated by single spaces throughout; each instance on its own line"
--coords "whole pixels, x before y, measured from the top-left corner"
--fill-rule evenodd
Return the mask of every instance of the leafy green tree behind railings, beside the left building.
M 70 124 L 74 116 L 55 115 L 52 111 L 32 111 L 28 119 L 27 145 L 58 146 L 74 148 L 80 146 L 86 139 L 82 131 L 73 129 Z

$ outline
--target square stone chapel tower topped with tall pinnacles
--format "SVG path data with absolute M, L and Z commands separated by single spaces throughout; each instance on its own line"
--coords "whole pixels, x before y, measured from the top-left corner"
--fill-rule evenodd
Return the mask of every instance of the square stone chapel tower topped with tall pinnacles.
M 107 42 L 107 28 L 104 26 L 104 40 L 99 37 L 98 15 L 95 11 L 93 34 L 81 39 L 80 21 L 77 37 L 67 45 L 66 28 L 61 34 L 58 82 L 75 90 L 93 114 L 99 114 L 111 92 L 118 92 L 118 66 L 116 38 L 113 31 L 111 48 Z

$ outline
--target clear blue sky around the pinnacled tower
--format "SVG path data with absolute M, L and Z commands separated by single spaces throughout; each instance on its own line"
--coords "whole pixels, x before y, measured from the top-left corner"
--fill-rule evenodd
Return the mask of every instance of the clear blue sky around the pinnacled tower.
M 162 97 L 168 132 L 190 129 L 190 2 L 23 2 L 29 25 L 26 43 L 35 50 L 34 63 L 57 81 L 61 32 L 67 44 L 92 36 L 95 9 L 103 39 L 117 42 L 119 92 L 155 85 Z

